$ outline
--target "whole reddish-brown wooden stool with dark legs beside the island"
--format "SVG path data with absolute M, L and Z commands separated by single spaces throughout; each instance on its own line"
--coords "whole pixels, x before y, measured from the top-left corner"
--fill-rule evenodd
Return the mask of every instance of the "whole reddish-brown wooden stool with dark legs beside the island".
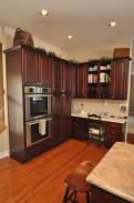
M 76 193 L 85 193 L 86 203 L 90 203 L 90 183 L 86 182 L 86 176 L 93 170 L 93 164 L 90 161 L 82 162 L 65 180 L 66 191 L 62 203 L 76 201 Z

